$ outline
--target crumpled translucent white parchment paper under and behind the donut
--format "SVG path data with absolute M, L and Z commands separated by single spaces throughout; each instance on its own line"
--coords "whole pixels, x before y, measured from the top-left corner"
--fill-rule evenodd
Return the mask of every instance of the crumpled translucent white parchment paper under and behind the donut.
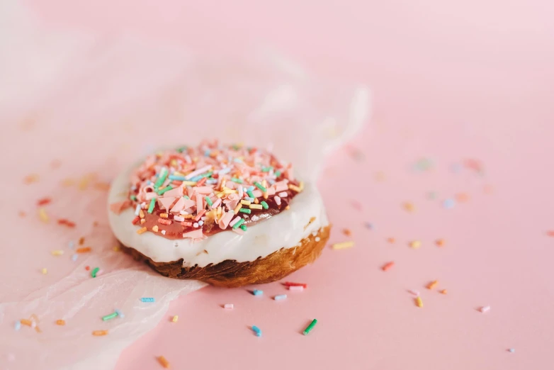
M 204 286 L 114 250 L 106 198 L 115 174 L 157 147 L 217 138 L 272 147 L 316 179 L 324 155 L 368 117 L 369 93 L 318 82 L 271 52 L 217 60 L 132 35 L 52 30 L 8 3 L 0 2 L 0 369 L 112 369 L 123 348 L 168 319 L 171 300 Z M 42 198 L 51 201 L 38 206 Z M 79 247 L 92 252 L 74 260 Z M 124 318 L 101 320 L 116 308 Z M 38 330 L 16 330 L 32 316 Z

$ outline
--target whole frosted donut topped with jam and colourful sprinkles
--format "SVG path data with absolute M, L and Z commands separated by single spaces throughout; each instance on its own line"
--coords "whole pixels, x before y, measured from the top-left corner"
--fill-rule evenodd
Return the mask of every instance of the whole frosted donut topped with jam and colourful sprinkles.
M 282 279 L 311 264 L 331 225 L 315 184 L 268 150 L 203 141 L 162 150 L 111 184 L 122 250 L 159 274 L 215 286 Z

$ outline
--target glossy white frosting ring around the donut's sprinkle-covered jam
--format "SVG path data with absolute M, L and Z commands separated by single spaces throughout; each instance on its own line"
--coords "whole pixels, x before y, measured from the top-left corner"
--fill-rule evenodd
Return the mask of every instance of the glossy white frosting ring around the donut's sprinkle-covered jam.
M 112 183 L 108 196 L 110 225 L 123 245 L 134 248 L 155 262 L 172 262 L 182 258 L 183 267 L 205 267 L 226 259 L 254 261 L 283 247 L 295 247 L 310 233 L 328 225 L 320 193 L 313 184 L 306 183 L 304 191 L 290 201 L 290 209 L 249 226 L 244 235 L 225 230 L 196 242 L 190 238 L 169 240 L 150 231 L 139 235 L 139 226 L 131 223 L 135 218 L 135 209 L 128 208 L 119 215 L 109 211 L 111 203 L 125 201 L 132 169 L 134 167 L 120 174 Z M 310 223 L 314 217 L 315 220 Z

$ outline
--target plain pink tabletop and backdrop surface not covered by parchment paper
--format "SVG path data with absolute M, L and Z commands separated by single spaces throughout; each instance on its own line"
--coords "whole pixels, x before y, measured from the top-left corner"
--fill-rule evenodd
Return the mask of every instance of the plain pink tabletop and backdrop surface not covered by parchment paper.
M 60 28 L 139 33 L 203 52 L 271 45 L 322 77 L 369 84 L 373 120 L 352 143 L 363 159 L 337 152 L 320 181 L 332 242 L 349 240 L 340 232 L 348 227 L 356 246 L 327 248 L 317 264 L 290 276 L 309 288 L 286 301 L 270 299 L 288 293 L 279 284 L 263 286 L 264 297 L 211 287 L 181 297 L 168 320 L 123 353 L 118 369 L 157 369 L 159 355 L 174 369 L 548 369 L 553 6 L 200 3 L 52 0 L 35 9 Z M 414 171 L 421 157 L 433 159 L 434 168 Z M 451 170 L 465 158 L 480 159 L 484 176 Z M 460 192 L 470 196 L 467 203 L 441 207 Z M 363 198 L 361 211 L 351 206 L 354 198 Z M 413 213 L 402 208 L 405 201 L 414 203 Z M 434 245 L 439 237 L 443 248 Z M 410 240 L 422 247 L 412 250 Z M 395 267 L 381 271 L 389 261 Z M 434 279 L 448 295 L 424 288 Z M 407 289 L 422 291 L 424 308 Z M 477 312 L 482 305 L 490 313 Z M 171 315 L 179 323 L 169 323 Z M 314 317 L 320 323 L 300 335 Z

